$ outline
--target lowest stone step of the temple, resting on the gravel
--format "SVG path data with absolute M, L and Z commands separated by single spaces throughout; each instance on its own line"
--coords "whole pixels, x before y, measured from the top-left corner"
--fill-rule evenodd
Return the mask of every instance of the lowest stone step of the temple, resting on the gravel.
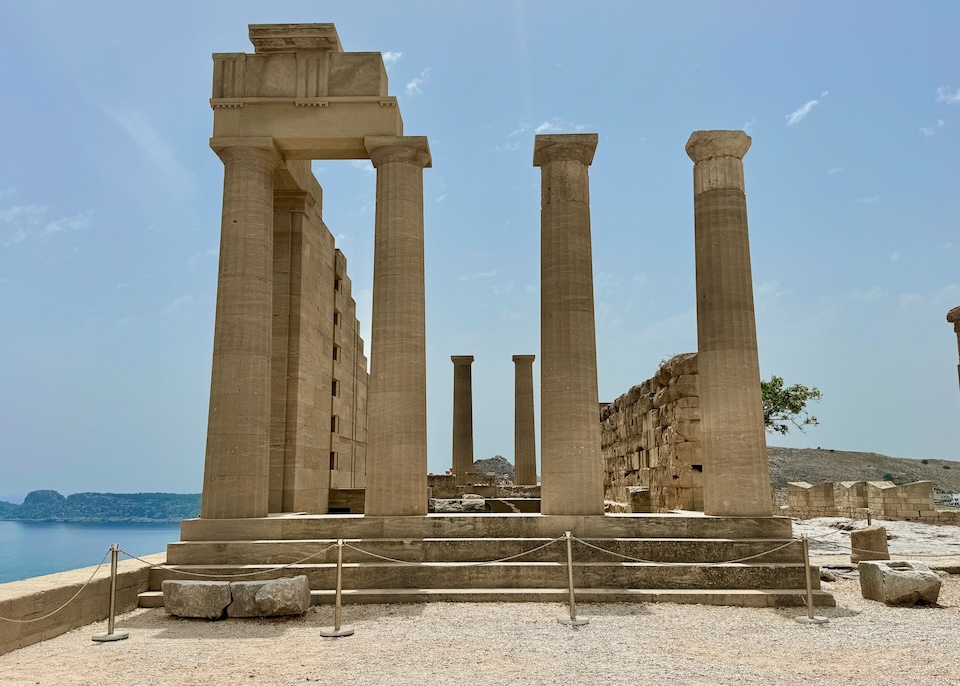
M 351 589 L 343 592 L 345 605 L 370 603 L 425 603 L 448 602 L 556 602 L 565 603 L 566 589 L 536 588 L 417 588 Z M 334 591 L 311 591 L 314 605 L 334 602 Z M 695 603 L 699 605 L 732 605 L 738 607 L 802 607 L 806 604 L 803 588 L 755 589 L 642 589 L 642 588 L 578 588 L 578 603 Z M 140 607 L 163 607 L 163 593 L 147 591 L 140 594 Z M 824 591 L 813 592 L 817 607 L 836 607 L 833 596 Z M 581 609 L 581 615 L 583 614 Z M 349 615 L 345 618 L 349 623 Z

